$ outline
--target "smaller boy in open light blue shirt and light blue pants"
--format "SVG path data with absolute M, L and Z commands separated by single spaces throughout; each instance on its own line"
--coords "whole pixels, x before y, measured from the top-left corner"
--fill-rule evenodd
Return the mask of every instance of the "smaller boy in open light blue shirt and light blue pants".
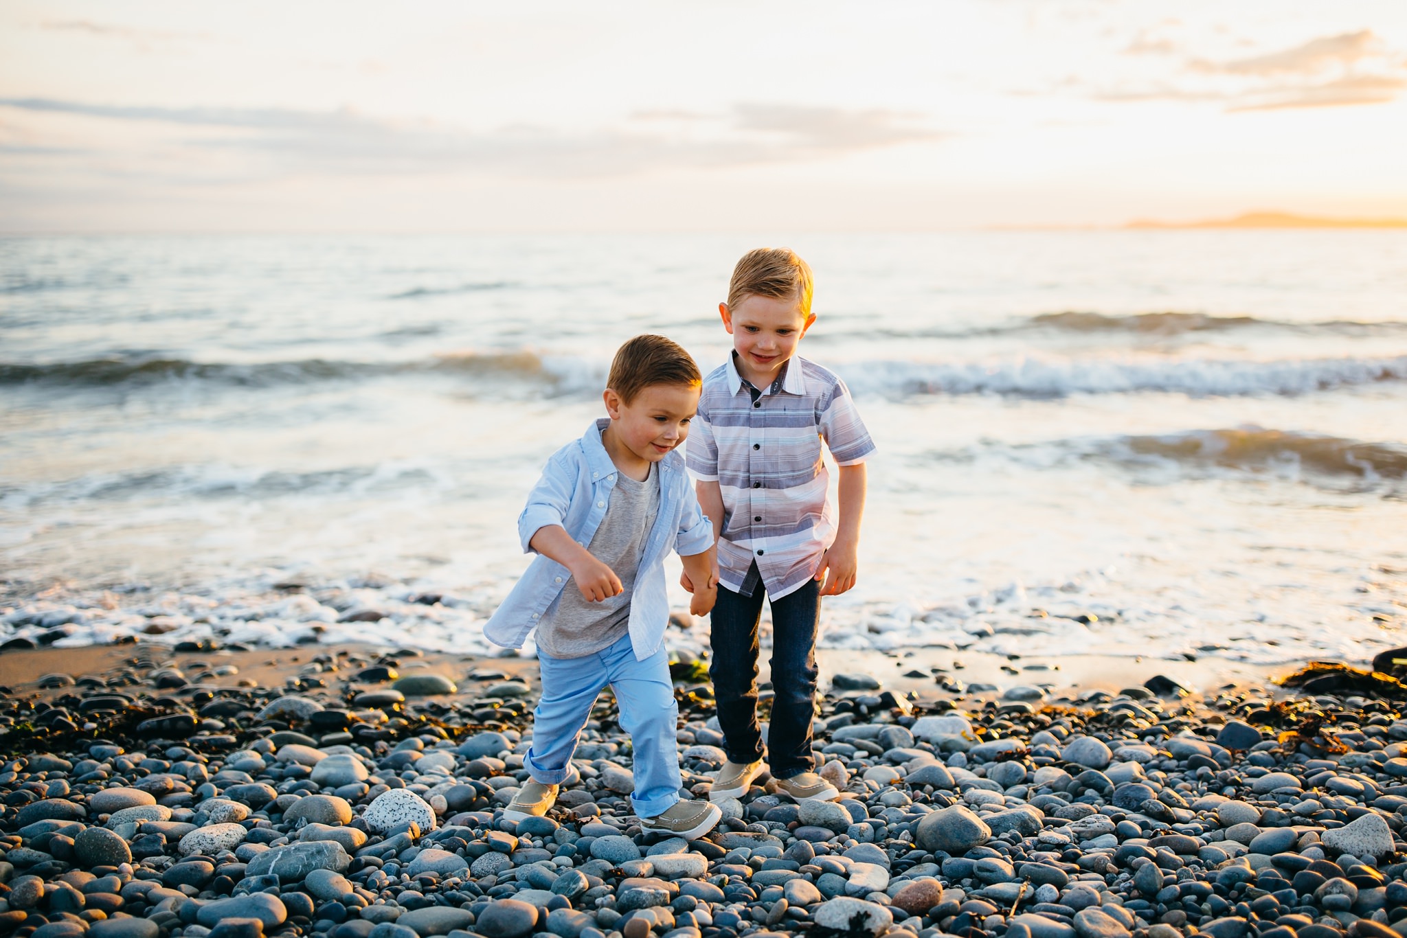
M 609 683 L 635 750 L 630 802 L 642 830 L 695 838 L 722 811 L 680 797 L 664 558 L 680 553 L 694 585 L 689 610 L 706 615 L 718 595 L 713 529 L 674 451 L 688 436 L 702 378 L 674 342 L 636 336 L 616 352 L 606 384 L 608 419 L 557 450 L 528 496 L 518 533 L 537 557 L 484 626 L 490 641 L 511 648 L 536 629 L 542 671 L 523 757 L 532 779 L 504 817 L 553 806 L 591 705 Z

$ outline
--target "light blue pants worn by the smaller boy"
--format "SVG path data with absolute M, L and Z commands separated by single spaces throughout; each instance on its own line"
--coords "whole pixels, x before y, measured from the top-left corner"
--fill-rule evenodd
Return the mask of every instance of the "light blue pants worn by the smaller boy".
M 630 803 L 639 817 L 654 817 L 680 800 L 680 755 L 675 727 L 680 707 L 670 681 L 664 648 L 636 661 L 630 636 L 605 651 L 584 658 L 549 658 L 537 653 L 542 699 L 532 712 L 532 748 L 523 765 L 533 780 L 561 785 L 577 751 L 581 727 L 601 689 L 611 685 L 620 706 L 620 727 L 635 747 L 635 793 Z

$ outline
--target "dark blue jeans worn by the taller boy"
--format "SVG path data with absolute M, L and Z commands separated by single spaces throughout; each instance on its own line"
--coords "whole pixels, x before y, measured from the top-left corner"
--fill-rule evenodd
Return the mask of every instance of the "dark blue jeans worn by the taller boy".
M 763 757 L 757 723 L 757 623 L 763 616 L 758 584 L 751 596 L 719 585 L 713 603 L 713 661 L 709 676 L 718 700 L 718 724 L 733 762 Z M 772 720 L 767 731 L 768 768 L 787 779 L 812 772 L 810 730 L 816 717 L 816 627 L 820 623 L 820 584 L 815 579 L 772 605 Z

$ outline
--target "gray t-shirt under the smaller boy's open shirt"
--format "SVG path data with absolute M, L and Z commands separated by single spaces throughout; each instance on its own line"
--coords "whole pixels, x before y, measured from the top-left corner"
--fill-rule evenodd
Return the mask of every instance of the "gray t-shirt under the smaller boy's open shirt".
M 644 555 L 644 541 L 660 513 L 660 471 L 651 463 L 643 482 L 616 473 L 606 515 L 587 550 L 620 578 L 619 596 L 587 602 L 568 578 L 561 595 L 537 623 L 537 650 L 549 658 L 584 658 L 609 648 L 630 629 L 630 595 Z

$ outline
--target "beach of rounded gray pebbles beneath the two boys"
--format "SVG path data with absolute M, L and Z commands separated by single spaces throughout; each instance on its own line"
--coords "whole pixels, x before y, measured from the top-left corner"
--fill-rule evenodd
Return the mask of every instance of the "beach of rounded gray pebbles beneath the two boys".
M 722 735 L 704 664 L 677 657 L 684 783 L 704 796 Z M 1075 689 L 1031 669 L 999 688 L 917 657 L 847 661 L 823 658 L 815 737 L 840 800 L 792 803 L 763 775 L 684 841 L 630 814 L 609 695 L 549 816 L 502 818 L 526 778 L 530 660 L 10 651 L 0 931 L 1407 934 L 1407 689 L 1393 678 L 1323 668 L 1193 692 L 1151 671 Z

